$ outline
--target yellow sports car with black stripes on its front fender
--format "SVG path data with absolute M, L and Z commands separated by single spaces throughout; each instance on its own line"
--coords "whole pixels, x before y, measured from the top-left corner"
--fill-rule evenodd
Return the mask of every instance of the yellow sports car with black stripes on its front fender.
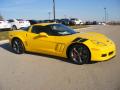
M 116 55 L 112 40 L 96 32 L 78 33 L 62 24 L 35 24 L 10 31 L 9 40 L 17 54 L 25 51 L 68 58 L 76 64 L 104 61 Z

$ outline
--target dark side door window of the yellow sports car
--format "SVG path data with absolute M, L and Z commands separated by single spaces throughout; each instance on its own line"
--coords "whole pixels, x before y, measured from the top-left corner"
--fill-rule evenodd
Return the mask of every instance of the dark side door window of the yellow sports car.
M 47 26 L 33 26 L 31 32 L 35 33 L 35 34 L 39 34 L 41 32 L 45 32 L 47 34 L 50 34 L 50 28 Z

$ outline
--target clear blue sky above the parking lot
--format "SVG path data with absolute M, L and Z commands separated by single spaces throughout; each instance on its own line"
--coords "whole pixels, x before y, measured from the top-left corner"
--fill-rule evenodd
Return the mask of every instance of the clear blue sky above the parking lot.
M 109 21 L 120 21 L 120 0 L 55 0 L 56 18 L 104 20 L 104 7 Z M 52 0 L 0 0 L 0 13 L 5 19 L 48 19 Z

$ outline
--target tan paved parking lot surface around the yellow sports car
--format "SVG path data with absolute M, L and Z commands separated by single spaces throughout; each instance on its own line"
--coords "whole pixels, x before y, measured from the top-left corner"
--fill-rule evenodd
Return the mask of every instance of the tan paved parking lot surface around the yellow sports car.
M 120 90 L 120 26 L 91 26 L 111 38 L 116 57 L 76 65 L 63 58 L 41 54 L 14 54 L 8 43 L 0 44 L 0 90 Z

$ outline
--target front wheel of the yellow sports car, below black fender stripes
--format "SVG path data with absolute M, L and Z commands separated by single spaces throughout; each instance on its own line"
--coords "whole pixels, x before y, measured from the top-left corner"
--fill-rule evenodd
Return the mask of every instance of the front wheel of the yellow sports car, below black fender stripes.
M 75 64 L 88 64 L 91 60 L 91 53 L 83 44 L 73 45 L 68 50 L 68 58 Z

